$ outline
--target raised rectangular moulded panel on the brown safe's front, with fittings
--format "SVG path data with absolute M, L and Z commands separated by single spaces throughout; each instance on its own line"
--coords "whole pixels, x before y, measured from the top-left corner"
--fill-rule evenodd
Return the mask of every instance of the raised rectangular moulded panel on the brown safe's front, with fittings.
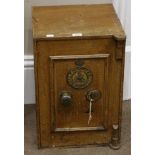
M 49 57 L 51 131 L 107 128 L 108 58 L 109 54 Z

